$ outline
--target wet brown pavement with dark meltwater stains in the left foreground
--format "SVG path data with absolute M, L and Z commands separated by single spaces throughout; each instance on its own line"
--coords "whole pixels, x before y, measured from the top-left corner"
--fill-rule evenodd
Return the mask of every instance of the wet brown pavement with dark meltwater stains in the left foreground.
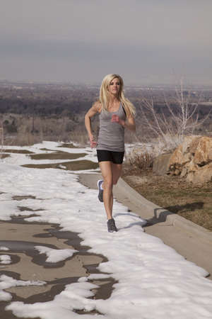
M 0 220 L 0 285 L 2 281 L 11 279 L 31 282 L 26 286 L 14 285 L 3 290 L 11 294 L 11 299 L 0 303 L 2 319 L 17 318 L 10 310 L 5 310 L 12 301 L 52 301 L 67 284 L 78 282 L 78 279 L 90 274 L 102 274 L 98 265 L 107 262 L 104 256 L 88 252 L 90 247 L 81 245 L 82 240 L 77 233 L 62 231 L 56 224 L 30 223 L 24 220 L 25 217 L 29 216 Z M 49 262 L 47 254 L 37 250 L 37 246 L 41 247 L 41 251 L 43 247 L 54 252 L 77 252 L 64 260 Z M 88 281 L 98 286 L 93 290 L 94 296 L 90 297 L 95 299 L 109 298 L 116 282 L 110 275 L 105 279 Z M 40 284 L 33 285 L 33 282 Z M 76 313 L 95 315 L 97 311 L 76 310 Z

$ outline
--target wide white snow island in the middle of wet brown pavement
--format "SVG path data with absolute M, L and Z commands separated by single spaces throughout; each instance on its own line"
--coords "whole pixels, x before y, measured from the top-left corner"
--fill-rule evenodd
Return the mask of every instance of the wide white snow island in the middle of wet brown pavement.
M 38 250 L 40 254 L 46 254 L 47 259 L 46 262 L 61 262 L 71 256 L 73 256 L 74 252 L 78 252 L 78 250 L 54 250 L 49 247 L 44 246 L 35 246 L 35 250 Z

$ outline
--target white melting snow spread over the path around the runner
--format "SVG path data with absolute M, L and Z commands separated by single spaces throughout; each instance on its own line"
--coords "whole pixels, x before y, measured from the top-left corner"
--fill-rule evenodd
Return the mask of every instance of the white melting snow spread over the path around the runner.
M 60 150 L 58 145 L 43 142 L 28 150 L 39 152 L 40 147 Z M 87 152 L 90 158 L 95 158 L 93 152 L 89 155 L 86 149 L 61 149 Z M 14 214 L 21 215 L 18 206 L 38 209 L 37 216 L 28 216 L 25 220 L 59 223 L 61 230 L 78 232 L 83 239 L 81 244 L 90 246 L 90 252 L 103 254 L 108 262 L 99 265 L 105 275 L 82 277 L 77 283 L 66 285 L 52 301 L 26 304 L 11 300 L 6 309 L 21 318 L 42 319 L 78 318 L 82 315 L 73 311 L 77 309 L 98 310 L 105 319 L 212 318 L 212 282 L 205 278 L 204 269 L 184 259 L 157 237 L 144 233 L 145 221 L 117 201 L 114 201 L 114 218 L 119 231 L 108 233 L 104 206 L 97 200 L 97 191 L 80 184 L 73 172 L 20 167 L 14 156 L 13 163 L 8 162 L 8 158 L 1 160 L 0 191 L 4 194 L 0 194 L 0 218 L 8 220 Z M 29 158 L 21 158 L 21 161 L 30 163 Z M 35 198 L 14 201 L 13 196 Z M 23 214 L 26 215 L 26 211 Z M 47 254 L 51 262 L 73 254 L 73 250 L 66 254 L 47 247 L 40 247 L 39 251 Z M 117 280 L 110 298 L 89 298 L 97 286 L 88 280 L 104 276 Z M 11 296 L 4 291 L 8 279 L 0 278 L 0 298 L 9 300 Z M 83 314 L 83 318 L 93 317 L 103 318 L 99 314 Z

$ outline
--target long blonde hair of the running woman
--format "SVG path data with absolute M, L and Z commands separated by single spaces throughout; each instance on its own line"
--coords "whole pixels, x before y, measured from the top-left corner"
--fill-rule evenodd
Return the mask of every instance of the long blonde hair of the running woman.
M 104 79 L 102 80 L 102 85 L 100 87 L 100 103 L 102 105 L 102 111 L 108 111 L 109 101 L 110 101 L 110 95 L 108 92 L 108 86 L 110 85 L 110 82 L 112 82 L 113 79 L 119 79 L 120 87 L 119 87 L 119 96 L 118 99 L 122 103 L 122 106 L 124 107 L 124 111 L 126 112 L 126 116 L 134 116 L 136 114 L 136 109 L 134 105 L 129 101 L 129 99 L 126 99 L 124 96 L 124 82 L 122 77 L 120 77 L 119 74 L 107 74 Z

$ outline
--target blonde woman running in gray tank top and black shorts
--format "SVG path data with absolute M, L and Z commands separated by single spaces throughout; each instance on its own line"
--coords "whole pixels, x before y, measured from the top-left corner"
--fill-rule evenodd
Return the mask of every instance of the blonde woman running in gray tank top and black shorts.
M 112 218 L 113 185 L 117 184 L 122 172 L 124 158 L 124 129 L 135 131 L 135 108 L 125 98 L 123 80 L 118 74 L 108 74 L 102 80 L 100 98 L 85 116 L 86 130 L 90 147 L 97 145 L 97 155 L 103 180 L 98 181 L 98 198 L 104 202 L 107 214 L 107 229 L 110 233 L 117 232 Z M 100 114 L 100 131 L 98 142 L 93 137 L 90 118 Z

